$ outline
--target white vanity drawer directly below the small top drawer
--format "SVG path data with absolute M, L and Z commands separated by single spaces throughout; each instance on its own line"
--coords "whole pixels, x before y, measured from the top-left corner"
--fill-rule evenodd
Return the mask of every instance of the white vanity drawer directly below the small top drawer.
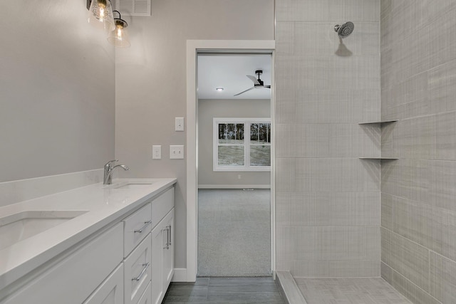
M 147 288 L 151 276 L 151 244 L 150 234 L 125 258 L 124 266 L 124 303 L 138 303 L 140 296 Z

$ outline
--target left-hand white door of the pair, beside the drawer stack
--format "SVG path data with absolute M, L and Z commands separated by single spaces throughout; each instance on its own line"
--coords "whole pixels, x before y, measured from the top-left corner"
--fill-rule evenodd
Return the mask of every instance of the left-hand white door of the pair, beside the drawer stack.
M 159 304 L 163 297 L 162 284 L 162 225 L 161 222 L 152 230 L 152 297 L 150 303 Z

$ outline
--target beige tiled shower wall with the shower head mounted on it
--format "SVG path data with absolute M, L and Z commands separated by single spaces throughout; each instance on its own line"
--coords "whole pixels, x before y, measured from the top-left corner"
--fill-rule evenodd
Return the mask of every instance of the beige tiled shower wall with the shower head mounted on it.
M 380 276 L 380 1 L 276 0 L 275 80 L 277 270 Z

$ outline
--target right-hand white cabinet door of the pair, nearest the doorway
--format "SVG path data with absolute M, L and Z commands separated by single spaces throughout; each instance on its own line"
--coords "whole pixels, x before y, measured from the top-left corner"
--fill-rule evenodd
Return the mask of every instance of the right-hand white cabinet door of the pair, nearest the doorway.
M 174 274 L 174 208 L 163 219 L 163 239 L 165 246 L 162 251 L 162 281 L 163 290 L 166 292 Z

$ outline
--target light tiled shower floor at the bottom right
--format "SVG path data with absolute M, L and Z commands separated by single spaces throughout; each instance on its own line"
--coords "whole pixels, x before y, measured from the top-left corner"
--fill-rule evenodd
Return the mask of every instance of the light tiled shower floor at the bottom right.
M 410 304 L 383 278 L 294 278 L 308 304 Z

